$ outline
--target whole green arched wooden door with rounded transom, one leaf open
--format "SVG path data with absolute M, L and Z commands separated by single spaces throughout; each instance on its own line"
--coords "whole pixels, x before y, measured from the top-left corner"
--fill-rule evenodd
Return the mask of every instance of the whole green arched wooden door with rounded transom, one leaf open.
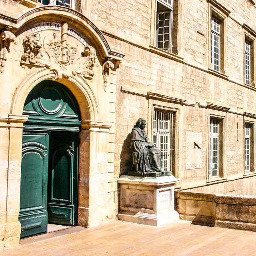
M 45 80 L 28 94 L 22 136 L 21 238 L 47 224 L 77 225 L 80 111 L 73 94 Z

